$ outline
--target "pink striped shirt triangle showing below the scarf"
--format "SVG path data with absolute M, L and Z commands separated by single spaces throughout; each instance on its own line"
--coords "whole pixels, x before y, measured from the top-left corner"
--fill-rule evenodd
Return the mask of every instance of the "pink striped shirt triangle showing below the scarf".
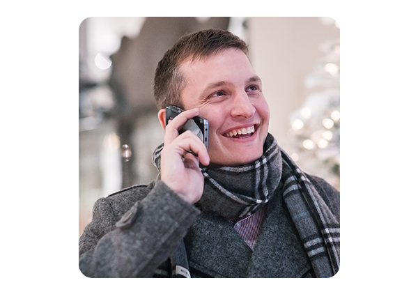
M 256 213 L 240 220 L 231 220 L 233 228 L 240 234 L 242 239 L 247 243 L 249 248 L 254 251 L 258 234 L 265 216 L 265 206 L 258 209 Z

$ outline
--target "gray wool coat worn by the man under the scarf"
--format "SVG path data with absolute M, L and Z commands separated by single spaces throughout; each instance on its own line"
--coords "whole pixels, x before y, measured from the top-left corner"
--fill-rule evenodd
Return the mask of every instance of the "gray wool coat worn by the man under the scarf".
M 339 192 L 308 178 L 339 220 Z M 229 220 L 201 213 L 160 180 L 121 190 L 93 206 L 79 277 L 171 277 L 169 256 L 182 239 L 192 278 L 315 277 L 281 196 L 267 206 L 253 252 Z

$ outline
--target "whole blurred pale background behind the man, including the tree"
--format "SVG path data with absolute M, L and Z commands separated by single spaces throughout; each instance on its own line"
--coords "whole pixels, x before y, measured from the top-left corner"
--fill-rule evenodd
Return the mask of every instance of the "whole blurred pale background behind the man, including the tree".
M 245 40 L 270 133 L 340 189 L 340 17 L 79 17 L 79 236 L 97 199 L 157 176 L 155 68 L 180 36 L 209 28 Z

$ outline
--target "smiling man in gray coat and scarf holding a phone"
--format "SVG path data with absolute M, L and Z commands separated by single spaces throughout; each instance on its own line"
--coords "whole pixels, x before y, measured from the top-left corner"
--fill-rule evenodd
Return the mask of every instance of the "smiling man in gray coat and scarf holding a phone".
M 154 93 L 160 176 L 95 203 L 79 277 L 339 277 L 339 192 L 300 171 L 268 133 L 240 38 L 183 36 L 158 63 Z M 166 126 L 168 105 L 185 112 Z M 197 115 L 209 123 L 208 150 L 178 134 Z

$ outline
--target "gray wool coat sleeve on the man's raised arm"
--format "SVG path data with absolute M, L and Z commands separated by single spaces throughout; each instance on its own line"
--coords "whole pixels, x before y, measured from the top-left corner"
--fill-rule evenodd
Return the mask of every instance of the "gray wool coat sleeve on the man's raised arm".
M 99 199 L 79 240 L 79 277 L 150 277 L 199 213 L 161 181 L 118 222 L 111 203 Z

